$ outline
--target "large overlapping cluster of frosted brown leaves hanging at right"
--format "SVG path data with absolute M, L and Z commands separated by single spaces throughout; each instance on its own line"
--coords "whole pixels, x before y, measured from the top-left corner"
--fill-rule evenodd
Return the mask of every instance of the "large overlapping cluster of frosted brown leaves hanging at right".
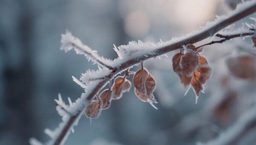
M 188 44 L 172 58 L 173 70 L 180 77 L 181 84 L 184 87 L 191 85 L 197 99 L 200 91 L 204 90 L 203 85 L 212 73 L 207 59 L 199 55 L 199 52 L 202 52 L 202 49 L 197 49 L 194 45 Z

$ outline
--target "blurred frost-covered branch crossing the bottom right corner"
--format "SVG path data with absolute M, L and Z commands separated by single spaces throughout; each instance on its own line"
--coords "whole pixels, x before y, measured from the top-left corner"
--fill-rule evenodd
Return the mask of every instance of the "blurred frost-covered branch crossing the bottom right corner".
M 256 127 L 256 106 L 251 107 L 249 110 L 243 113 L 239 120 L 231 126 L 227 131 L 221 133 L 216 139 L 198 145 L 234 145 L 245 136 L 247 131 L 255 129 Z

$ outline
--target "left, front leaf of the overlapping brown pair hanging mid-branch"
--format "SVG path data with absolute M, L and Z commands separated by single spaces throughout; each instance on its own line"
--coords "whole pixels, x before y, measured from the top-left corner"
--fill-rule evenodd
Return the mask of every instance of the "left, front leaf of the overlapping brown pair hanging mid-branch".
M 146 86 L 145 86 L 147 77 L 148 77 L 148 71 L 145 69 L 141 69 L 141 70 L 137 70 L 133 78 L 134 87 L 142 94 L 147 93 Z

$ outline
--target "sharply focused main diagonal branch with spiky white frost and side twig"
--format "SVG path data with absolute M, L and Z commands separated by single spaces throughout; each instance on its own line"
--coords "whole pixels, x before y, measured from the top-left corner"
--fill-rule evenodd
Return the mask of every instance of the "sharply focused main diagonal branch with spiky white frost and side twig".
M 57 110 L 62 116 L 63 122 L 61 122 L 55 131 L 47 130 L 46 133 L 51 137 L 51 140 L 47 142 L 47 145 L 63 145 L 70 131 L 73 131 L 73 127 L 77 125 L 81 115 L 83 114 L 88 103 L 113 79 L 116 75 L 122 73 L 128 68 L 133 67 L 136 64 L 146 61 L 150 58 L 160 57 L 167 52 L 179 49 L 182 45 L 195 44 L 210 36 L 215 35 L 221 29 L 226 28 L 232 23 L 256 12 L 256 0 L 248 1 L 237 6 L 237 9 L 232 13 L 218 17 L 214 22 L 208 23 L 201 30 L 197 30 L 181 38 L 172 38 L 170 41 L 159 43 L 151 43 L 142 41 L 130 42 L 128 45 L 122 45 L 119 47 L 114 46 L 114 50 L 118 53 L 119 58 L 114 61 L 100 57 L 96 51 L 93 51 L 88 46 L 83 45 L 78 38 L 71 35 L 70 32 L 62 35 L 61 49 L 66 52 L 75 49 L 77 54 L 83 54 L 87 59 L 95 62 L 99 66 L 99 70 L 90 71 L 82 74 L 80 80 L 73 78 L 73 80 L 81 87 L 86 89 L 85 93 L 82 93 L 81 97 L 76 102 L 70 102 L 70 105 L 63 103 L 59 98 L 57 104 Z M 106 69 L 107 68 L 107 69 Z M 83 83 L 86 83 L 83 84 Z M 30 144 L 41 145 L 36 139 L 30 139 Z

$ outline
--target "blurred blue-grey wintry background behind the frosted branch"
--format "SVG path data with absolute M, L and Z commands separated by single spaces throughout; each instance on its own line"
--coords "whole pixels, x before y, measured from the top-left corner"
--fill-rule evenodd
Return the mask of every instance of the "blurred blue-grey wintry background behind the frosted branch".
M 0 0 L 0 145 L 27 145 L 30 137 L 49 140 L 61 117 L 54 99 L 75 101 L 83 93 L 71 76 L 97 69 L 83 55 L 60 51 L 66 30 L 105 58 L 129 41 L 170 40 L 227 14 L 240 0 Z M 255 14 L 251 17 L 256 17 Z M 254 23 L 248 17 L 242 22 Z M 206 40 L 199 44 L 209 42 Z M 199 44 L 196 44 L 199 45 Z M 195 145 L 214 139 L 255 102 L 256 83 L 231 77 L 225 56 L 251 50 L 249 38 L 207 46 L 213 73 L 201 93 L 180 84 L 172 56 L 146 61 L 157 81 L 158 110 L 141 102 L 131 88 L 98 119 L 82 116 L 65 145 Z M 159 65 L 160 64 L 160 65 Z M 137 70 L 134 67 L 132 70 Z M 131 80 L 132 77 L 129 79 Z M 256 142 L 256 130 L 239 144 Z

